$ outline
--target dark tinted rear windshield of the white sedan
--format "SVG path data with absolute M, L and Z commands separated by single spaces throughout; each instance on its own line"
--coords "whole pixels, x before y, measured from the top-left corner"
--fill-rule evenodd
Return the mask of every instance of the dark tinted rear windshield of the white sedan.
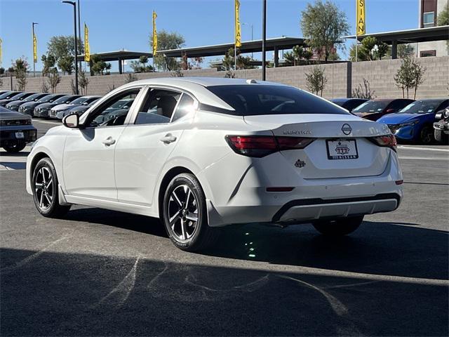
M 349 114 L 326 100 L 290 86 L 208 86 L 209 91 L 236 110 L 213 111 L 238 116 L 263 114 Z M 208 108 L 205 108 L 208 110 Z

